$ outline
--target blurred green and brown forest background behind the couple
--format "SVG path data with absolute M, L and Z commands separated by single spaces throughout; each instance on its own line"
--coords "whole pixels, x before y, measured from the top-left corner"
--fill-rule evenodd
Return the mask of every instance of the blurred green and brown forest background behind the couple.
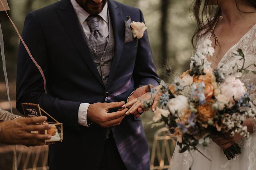
M 13 19 L 20 33 L 22 33 L 24 20 L 28 12 L 42 8 L 57 1 L 58 0 L 8 0 L 9 7 L 11 9 L 8 11 L 8 14 Z M 148 27 L 149 40 L 158 73 L 161 73 L 166 63 L 169 62 L 175 66 L 172 67 L 172 69 L 175 70 L 177 74 L 189 68 L 189 57 L 193 54 L 190 39 L 195 29 L 193 17 L 191 18 L 190 16 L 190 5 L 193 0 L 117 1 L 135 6 L 142 10 L 146 26 Z M 15 108 L 16 62 L 20 41 L 18 35 L 11 25 L 11 22 L 3 11 L 0 12 L 0 20 L 4 34 L 4 50 L 12 107 Z M 9 110 L 2 69 L 2 60 L 0 63 L 0 107 Z M 168 78 L 164 76 L 162 76 L 162 78 L 168 80 Z M 14 113 L 18 114 L 15 109 Z M 148 122 L 152 120 L 152 117 L 153 113 L 150 111 L 142 115 L 143 125 L 150 149 L 152 148 L 154 133 L 157 129 L 159 129 L 159 127 L 152 129 L 151 125 L 148 124 Z M 24 148 L 25 147 L 18 147 L 18 152 L 20 150 L 24 150 Z M 0 146 L 1 170 L 9 170 L 13 168 L 13 150 L 13 146 Z M 25 163 L 28 165 L 30 164 L 30 160 L 23 160 L 22 156 L 20 161 L 25 161 Z M 24 168 L 26 167 L 23 165 L 19 166 L 18 169 Z

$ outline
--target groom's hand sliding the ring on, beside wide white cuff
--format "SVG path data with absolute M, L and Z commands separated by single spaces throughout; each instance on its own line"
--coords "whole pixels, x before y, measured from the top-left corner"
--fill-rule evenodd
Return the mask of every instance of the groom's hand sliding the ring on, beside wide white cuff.
M 108 113 L 111 108 L 118 108 L 124 105 L 122 102 L 113 103 L 94 103 L 88 107 L 87 117 L 93 123 L 96 123 L 103 128 L 117 126 L 124 119 L 125 113 L 128 109 L 122 111 Z

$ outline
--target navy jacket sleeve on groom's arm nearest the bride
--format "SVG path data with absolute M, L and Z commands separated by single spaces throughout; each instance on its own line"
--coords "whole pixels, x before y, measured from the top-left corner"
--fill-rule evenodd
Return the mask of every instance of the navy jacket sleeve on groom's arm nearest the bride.
M 145 22 L 141 11 L 140 22 Z M 159 77 L 156 74 L 156 67 L 153 62 L 147 30 L 138 42 L 138 51 L 133 76 L 135 80 L 135 89 L 149 84 L 153 86 L 159 85 Z

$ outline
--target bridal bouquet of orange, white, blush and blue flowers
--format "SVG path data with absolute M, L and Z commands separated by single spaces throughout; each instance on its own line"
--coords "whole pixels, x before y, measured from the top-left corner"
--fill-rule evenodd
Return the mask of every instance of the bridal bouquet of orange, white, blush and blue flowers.
M 246 126 L 242 126 L 243 121 L 247 118 L 256 120 L 256 110 L 249 97 L 252 85 L 246 87 L 239 80 L 244 74 L 255 72 L 248 70 L 249 66 L 244 64 L 242 68 L 236 64 L 232 68 L 222 66 L 213 70 L 206 60 L 214 53 L 211 44 L 210 40 L 204 41 L 204 48 L 191 57 L 191 70 L 176 77 L 172 85 L 161 81 L 160 92 L 151 88 L 152 99 L 144 101 L 145 107 L 149 107 L 154 101 L 153 96 L 159 95 L 153 122 L 165 123 L 171 136 L 177 140 L 180 153 L 191 150 L 200 152 L 197 145 L 207 146 L 211 134 L 224 136 L 229 133 L 234 136 L 237 133 L 248 138 L 249 132 Z M 245 63 L 241 49 L 230 57 Z M 237 144 L 224 150 L 228 160 L 240 153 L 241 148 Z

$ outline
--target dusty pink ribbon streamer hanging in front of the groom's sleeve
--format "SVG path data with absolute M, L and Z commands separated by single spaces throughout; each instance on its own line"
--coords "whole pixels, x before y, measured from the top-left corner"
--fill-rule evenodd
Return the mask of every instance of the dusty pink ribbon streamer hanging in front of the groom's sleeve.
M 42 68 L 38 65 L 38 63 L 36 62 L 36 60 L 34 59 L 34 57 L 32 56 L 32 54 L 30 53 L 30 51 L 29 51 L 29 49 L 28 49 L 28 46 L 27 46 L 26 43 L 24 42 L 23 38 L 20 36 L 20 33 L 19 33 L 17 27 L 15 26 L 15 24 L 13 23 L 12 19 L 9 17 L 9 15 L 8 15 L 8 13 L 7 13 L 5 7 L 4 7 L 4 4 L 3 4 L 2 0 L 0 0 L 0 2 L 1 2 L 3 8 L 4 8 L 4 11 L 5 11 L 7 17 L 10 19 L 10 21 L 11 21 L 11 23 L 12 23 L 12 26 L 14 27 L 16 33 L 18 34 L 18 36 L 19 36 L 19 38 L 20 38 L 20 41 L 22 42 L 22 44 L 23 44 L 24 47 L 26 48 L 26 50 L 27 50 L 27 52 L 28 52 L 28 55 L 30 56 L 31 60 L 35 63 L 37 69 L 40 71 L 40 73 L 41 73 L 41 75 L 42 75 L 42 77 L 43 77 L 43 79 L 44 79 L 44 90 L 45 90 L 45 87 L 46 87 L 46 79 L 45 79 L 44 72 L 43 72 Z

